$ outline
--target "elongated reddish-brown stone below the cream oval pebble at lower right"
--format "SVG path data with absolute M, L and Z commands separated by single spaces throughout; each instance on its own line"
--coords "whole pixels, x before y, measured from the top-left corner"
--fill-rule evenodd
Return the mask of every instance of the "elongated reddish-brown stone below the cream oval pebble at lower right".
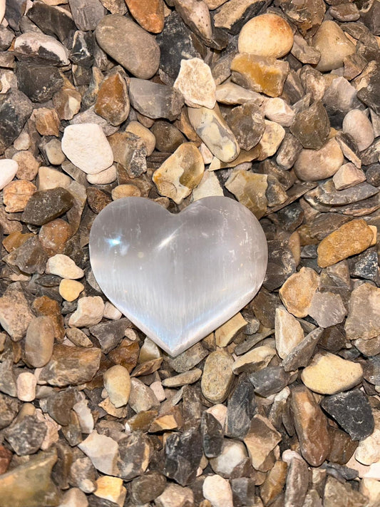
M 319 466 L 330 451 L 327 417 L 304 386 L 292 389 L 291 406 L 301 454 L 311 466 Z

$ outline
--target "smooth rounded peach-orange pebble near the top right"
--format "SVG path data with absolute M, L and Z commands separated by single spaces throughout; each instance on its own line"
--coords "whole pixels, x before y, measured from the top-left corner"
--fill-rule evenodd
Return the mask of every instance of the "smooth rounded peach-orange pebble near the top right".
M 262 14 L 250 19 L 238 39 L 240 53 L 281 58 L 292 49 L 293 31 L 277 14 Z

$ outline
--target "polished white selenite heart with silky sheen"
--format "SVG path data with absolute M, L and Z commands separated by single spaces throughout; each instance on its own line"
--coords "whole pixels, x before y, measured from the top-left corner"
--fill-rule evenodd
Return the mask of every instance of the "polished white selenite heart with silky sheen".
M 115 307 L 176 356 L 255 296 L 267 241 L 252 212 L 230 198 L 203 198 L 173 215 L 130 197 L 94 220 L 90 259 Z

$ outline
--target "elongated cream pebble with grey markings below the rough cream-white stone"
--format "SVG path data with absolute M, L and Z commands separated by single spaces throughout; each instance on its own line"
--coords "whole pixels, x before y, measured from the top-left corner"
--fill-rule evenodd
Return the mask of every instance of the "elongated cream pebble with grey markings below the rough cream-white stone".
M 212 155 L 222 162 L 231 162 L 237 158 L 240 147 L 217 106 L 213 109 L 188 108 L 188 116 L 192 128 Z

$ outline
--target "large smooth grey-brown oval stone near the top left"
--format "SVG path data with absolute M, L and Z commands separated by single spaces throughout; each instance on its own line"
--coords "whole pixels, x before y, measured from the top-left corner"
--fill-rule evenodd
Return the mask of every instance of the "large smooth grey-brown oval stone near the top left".
M 133 76 L 149 79 L 160 61 L 160 48 L 153 36 L 120 14 L 104 16 L 96 27 L 96 41 Z

